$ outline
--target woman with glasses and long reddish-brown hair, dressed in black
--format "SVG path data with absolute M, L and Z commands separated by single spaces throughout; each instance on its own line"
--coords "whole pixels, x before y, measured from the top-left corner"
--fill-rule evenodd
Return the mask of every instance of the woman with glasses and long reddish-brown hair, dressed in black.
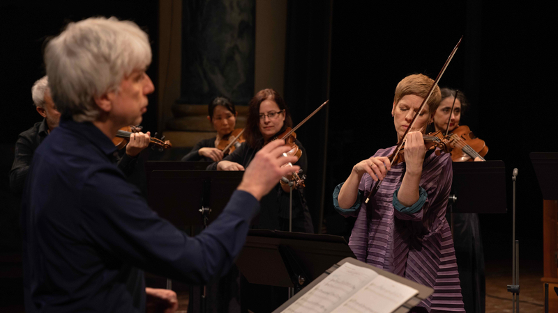
M 242 143 L 232 154 L 223 158 L 223 161 L 215 162 L 207 169 L 244 170 L 266 143 L 291 126 L 289 108 L 276 90 L 260 90 L 250 100 L 248 106 L 248 120 L 244 131 L 246 142 Z M 295 143 L 302 151 L 302 156 L 296 165 L 306 173 L 306 150 L 300 141 L 297 140 Z M 278 182 L 276 188 L 262 198 L 260 201 L 262 211 L 259 214 L 259 221 L 254 227 L 268 230 L 289 230 L 289 191 L 289 186 Z M 296 188 L 292 193 L 293 232 L 314 232 L 303 188 Z

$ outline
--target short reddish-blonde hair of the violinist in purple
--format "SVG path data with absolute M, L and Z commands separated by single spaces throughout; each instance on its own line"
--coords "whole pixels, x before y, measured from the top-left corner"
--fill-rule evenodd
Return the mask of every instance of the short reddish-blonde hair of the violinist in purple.
M 412 74 L 402 79 L 395 87 L 395 96 L 393 102 L 398 104 L 399 100 L 406 95 L 416 95 L 425 99 L 428 96 L 428 91 L 432 87 L 434 79 L 423 74 Z M 432 91 L 432 95 L 428 99 L 428 112 L 434 115 L 440 102 L 442 101 L 442 93 L 440 88 L 436 85 Z

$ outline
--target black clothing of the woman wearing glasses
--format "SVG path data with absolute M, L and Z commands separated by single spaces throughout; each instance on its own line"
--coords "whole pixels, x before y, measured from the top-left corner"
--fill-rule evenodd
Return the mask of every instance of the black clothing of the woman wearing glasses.
M 295 141 L 296 145 L 302 151 L 302 156 L 295 164 L 300 166 L 303 173 L 308 169 L 306 161 L 306 150 L 300 141 Z M 239 163 L 244 168 L 248 167 L 250 161 L 255 157 L 259 149 L 254 149 L 247 142 L 234 150 L 232 154 L 223 158 L 225 161 Z M 208 170 L 217 170 L 217 163 L 212 163 L 207 167 Z M 262 173 L 263 174 L 263 173 Z M 289 193 L 282 190 L 281 185 L 277 184 L 271 191 L 260 200 L 259 218 L 255 220 L 252 228 L 262 228 L 266 230 L 283 230 L 289 231 Z M 292 231 L 313 233 L 312 218 L 306 198 L 304 197 L 304 189 L 298 188 L 292 191 Z

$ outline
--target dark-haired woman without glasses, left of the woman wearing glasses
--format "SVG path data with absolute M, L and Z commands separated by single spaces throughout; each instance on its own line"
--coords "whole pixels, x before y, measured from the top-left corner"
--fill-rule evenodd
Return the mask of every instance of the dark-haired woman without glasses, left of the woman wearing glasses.
M 192 151 L 182 158 L 182 161 L 221 161 L 223 151 L 216 147 L 221 139 L 226 138 L 234 131 L 236 115 L 238 114 L 234 109 L 234 104 L 226 97 L 213 99 L 208 106 L 207 120 L 217 131 L 217 136 L 199 141 Z

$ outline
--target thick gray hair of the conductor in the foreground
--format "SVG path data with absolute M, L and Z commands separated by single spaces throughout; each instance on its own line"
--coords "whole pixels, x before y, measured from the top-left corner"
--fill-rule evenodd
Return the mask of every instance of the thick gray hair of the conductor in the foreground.
M 147 34 L 116 17 L 70 23 L 45 48 L 50 95 L 60 113 L 76 122 L 97 120 L 94 97 L 118 93 L 125 77 L 150 63 Z

